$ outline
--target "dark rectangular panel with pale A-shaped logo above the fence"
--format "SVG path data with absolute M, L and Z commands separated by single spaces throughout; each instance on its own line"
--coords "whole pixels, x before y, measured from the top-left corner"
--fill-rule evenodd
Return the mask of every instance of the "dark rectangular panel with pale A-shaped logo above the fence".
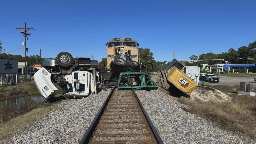
M 0 58 L 0 74 L 17 74 L 18 60 Z

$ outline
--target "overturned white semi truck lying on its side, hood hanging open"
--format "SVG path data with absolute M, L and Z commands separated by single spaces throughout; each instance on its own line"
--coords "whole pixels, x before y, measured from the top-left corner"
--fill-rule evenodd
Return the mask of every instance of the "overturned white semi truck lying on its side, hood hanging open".
M 34 74 L 34 81 L 40 94 L 49 99 L 58 89 L 53 83 L 63 88 L 66 98 L 85 97 L 97 93 L 98 61 L 90 58 L 77 58 L 61 52 L 56 60 L 44 60 L 43 67 Z

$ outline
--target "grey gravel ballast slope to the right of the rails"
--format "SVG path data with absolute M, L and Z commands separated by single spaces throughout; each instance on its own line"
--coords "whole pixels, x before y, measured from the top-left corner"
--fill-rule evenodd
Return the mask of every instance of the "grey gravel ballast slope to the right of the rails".
M 136 90 L 136 94 L 166 144 L 254 143 L 182 110 L 181 107 L 186 107 L 185 105 L 160 91 Z

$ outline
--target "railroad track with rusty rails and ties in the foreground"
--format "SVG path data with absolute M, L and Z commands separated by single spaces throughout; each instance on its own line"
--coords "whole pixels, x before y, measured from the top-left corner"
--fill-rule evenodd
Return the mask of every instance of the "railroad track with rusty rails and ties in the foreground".
M 113 89 L 80 144 L 162 144 L 134 90 Z

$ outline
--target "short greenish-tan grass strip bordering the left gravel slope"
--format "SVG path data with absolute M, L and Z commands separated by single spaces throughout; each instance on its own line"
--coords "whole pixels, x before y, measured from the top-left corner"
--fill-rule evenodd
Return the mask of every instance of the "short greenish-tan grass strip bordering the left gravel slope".
M 32 125 L 34 122 L 41 120 L 40 116 L 56 109 L 59 109 L 59 107 L 48 106 L 37 108 L 24 115 L 18 116 L 9 122 L 0 124 L 0 141 L 22 130 L 27 130 L 29 128 L 28 125 Z

